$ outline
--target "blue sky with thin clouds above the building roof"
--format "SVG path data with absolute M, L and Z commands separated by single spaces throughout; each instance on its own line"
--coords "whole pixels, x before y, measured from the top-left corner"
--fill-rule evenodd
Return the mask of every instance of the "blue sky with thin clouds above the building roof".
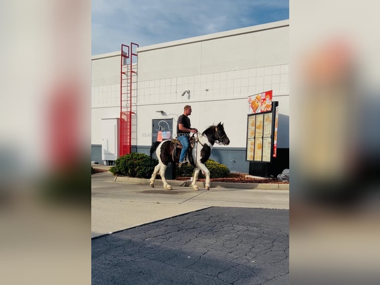
M 91 54 L 289 19 L 289 0 L 92 0 Z

